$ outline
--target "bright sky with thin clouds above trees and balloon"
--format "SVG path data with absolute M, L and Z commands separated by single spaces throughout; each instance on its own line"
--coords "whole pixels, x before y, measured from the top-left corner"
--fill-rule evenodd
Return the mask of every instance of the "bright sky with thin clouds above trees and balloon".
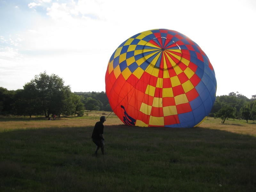
M 256 94 L 255 0 L 0 0 L 0 87 L 56 74 L 72 92 L 105 92 L 116 48 L 143 31 L 178 31 L 206 53 L 216 95 Z

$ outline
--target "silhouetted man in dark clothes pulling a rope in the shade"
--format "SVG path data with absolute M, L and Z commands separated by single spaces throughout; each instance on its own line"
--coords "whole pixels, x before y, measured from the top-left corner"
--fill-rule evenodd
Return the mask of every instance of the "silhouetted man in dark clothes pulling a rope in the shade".
M 96 150 L 93 156 L 97 156 L 98 150 L 101 149 L 102 155 L 104 155 L 104 137 L 103 137 L 103 123 L 106 121 L 105 116 L 100 117 L 100 121 L 98 121 L 92 132 L 92 141 L 97 145 Z

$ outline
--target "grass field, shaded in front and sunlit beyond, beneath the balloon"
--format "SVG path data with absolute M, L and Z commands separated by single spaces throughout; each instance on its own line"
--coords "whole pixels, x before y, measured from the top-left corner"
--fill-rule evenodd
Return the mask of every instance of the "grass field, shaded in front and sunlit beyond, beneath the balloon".
M 143 128 L 111 114 L 106 155 L 93 157 L 91 134 L 101 115 L 0 117 L 0 191 L 256 191 L 252 121 Z

